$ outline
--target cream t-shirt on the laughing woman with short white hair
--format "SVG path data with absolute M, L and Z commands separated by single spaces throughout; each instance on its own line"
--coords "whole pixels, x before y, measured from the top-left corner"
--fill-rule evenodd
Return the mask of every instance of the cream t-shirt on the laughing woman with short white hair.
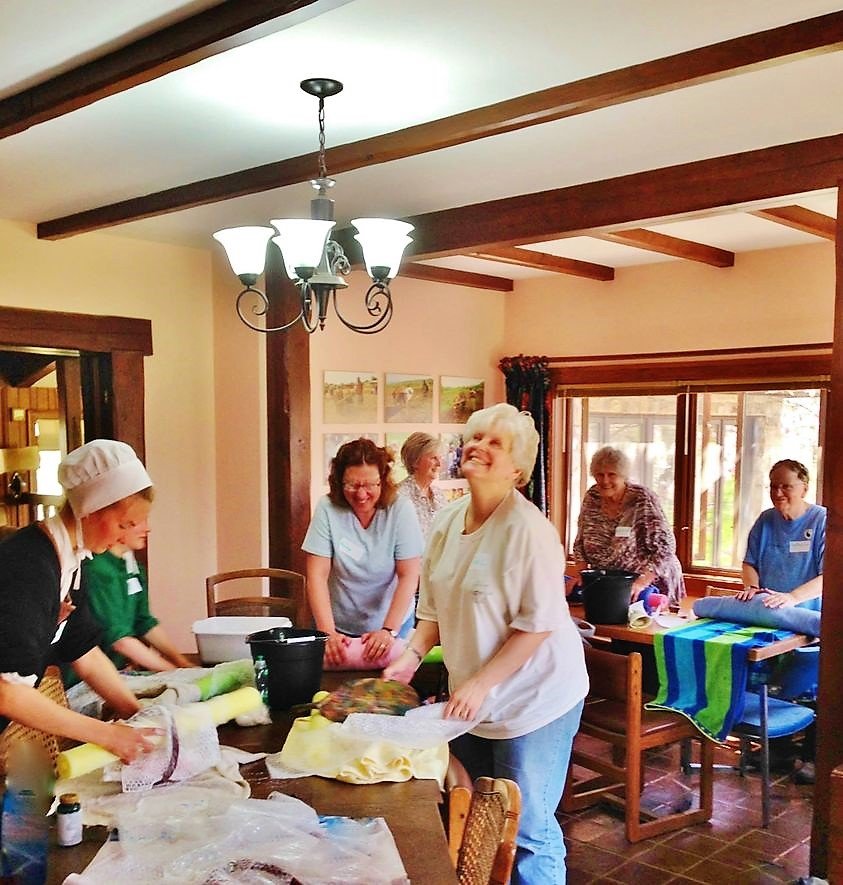
M 450 688 L 473 676 L 512 630 L 550 636 L 496 685 L 472 734 L 514 738 L 567 713 L 588 692 L 582 639 L 565 601 L 565 557 L 556 529 L 512 491 L 464 535 L 470 496 L 441 510 L 422 564 L 420 620 L 435 621 Z

